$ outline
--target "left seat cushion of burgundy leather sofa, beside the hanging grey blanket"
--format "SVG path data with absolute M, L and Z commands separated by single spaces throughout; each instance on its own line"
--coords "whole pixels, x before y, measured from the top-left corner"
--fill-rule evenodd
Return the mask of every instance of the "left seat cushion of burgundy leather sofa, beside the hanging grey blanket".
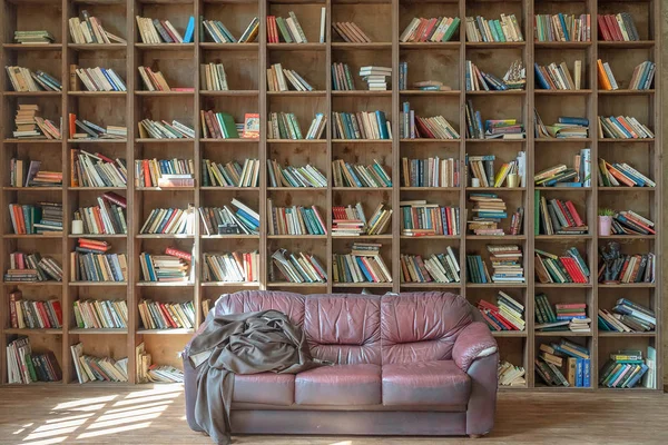
M 295 375 L 237 374 L 234 376 L 232 400 L 265 405 L 292 405 L 295 402 Z

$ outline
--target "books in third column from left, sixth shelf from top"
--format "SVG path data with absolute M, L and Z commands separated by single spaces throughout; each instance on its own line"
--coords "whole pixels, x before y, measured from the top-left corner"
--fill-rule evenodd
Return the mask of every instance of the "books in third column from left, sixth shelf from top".
M 141 279 L 144 281 L 188 281 L 193 256 L 186 251 L 168 247 L 165 255 L 139 255 Z

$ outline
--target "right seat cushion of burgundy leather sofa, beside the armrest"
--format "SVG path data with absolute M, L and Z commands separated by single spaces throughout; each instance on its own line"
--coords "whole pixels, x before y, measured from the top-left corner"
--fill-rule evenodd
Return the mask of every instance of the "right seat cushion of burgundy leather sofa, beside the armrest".
M 471 379 L 453 360 L 383 366 L 383 405 L 465 405 Z

